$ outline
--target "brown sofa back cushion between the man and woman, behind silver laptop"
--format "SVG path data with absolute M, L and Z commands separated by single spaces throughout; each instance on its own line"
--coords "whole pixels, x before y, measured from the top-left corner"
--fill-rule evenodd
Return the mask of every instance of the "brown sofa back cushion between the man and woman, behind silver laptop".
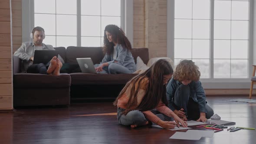
M 76 58 L 92 58 L 94 64 L 100 63 L 104 57 L 102 47 L 69 46 L 66 49 L 66 62 L 77 63 Z

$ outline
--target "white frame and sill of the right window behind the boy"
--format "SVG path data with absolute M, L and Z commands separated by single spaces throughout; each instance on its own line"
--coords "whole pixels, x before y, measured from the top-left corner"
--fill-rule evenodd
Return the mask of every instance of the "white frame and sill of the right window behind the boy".
M 174 3 L 175 0 L 167 0 L 167 57 L 174 61 Z M 248 40 L 248 78 L 246 79 L 214 79 L 213 78 L 213 26 L 214 26 L 214 0 L 210 0 L 210 78 L 200 79 L 204 88 L 250 88 L 250 79 L 252 75 L 252 64 L 256 63 L 256 51 L 253 51 L 254 43 L 253 36 L 256 32 L 254 28 L 254 7 L 253 0 L 249 0 L 249 40 Z M 253 59 L 254 58 L 254 59 Z

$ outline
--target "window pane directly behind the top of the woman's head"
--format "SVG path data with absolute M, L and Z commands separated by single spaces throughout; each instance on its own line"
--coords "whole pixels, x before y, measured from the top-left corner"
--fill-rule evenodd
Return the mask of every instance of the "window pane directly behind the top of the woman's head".
M 115 24 L 118 27 L 120 27 L 120 21 L 121 21 L 121 17 L 119 16 L 102 16 L 102 30 L 101 30 L 101 36 L 104 36 L 104 30 L 105 27 L 109 24 Z

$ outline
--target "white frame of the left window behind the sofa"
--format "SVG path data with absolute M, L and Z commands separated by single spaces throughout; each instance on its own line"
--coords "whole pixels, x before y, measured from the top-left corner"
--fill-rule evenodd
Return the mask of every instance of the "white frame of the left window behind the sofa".
M 77 0 L 77 11 L 81 11 L 81 0 Z M 120 27 L 133 44 L 133 0 L 121 0 Z M 22 0 L 22 42 L 30 42 L 34 28 L 34 0 Z M 77 15 L 77 46 L 81 46 L 81 15 Z

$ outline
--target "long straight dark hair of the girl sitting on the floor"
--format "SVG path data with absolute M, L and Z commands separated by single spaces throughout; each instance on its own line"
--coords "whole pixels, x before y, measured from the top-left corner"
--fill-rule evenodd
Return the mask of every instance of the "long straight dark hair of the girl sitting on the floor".
M 123 111 L 123 114 L 126 115 L 129 111 L 134 110 L 131 109 L 131 107 L 135 103 L 138 103 L 138 92 L 141 88 L 141 85 L 144 85 L 144 78 L 147 78 L 148 87 L 146 88 L 146 94 L 144 95 L 141 103 L 135 109 L 139 111 L 152 110 L 158 105 L 160 100 L 163 101 L 165 105 L 167 105 L 166 85 L 163 85 L 163 82 L 164 75 L 170 74 L 173 74 L 173 69 L 170 63 L 165 59 L 159 59 L 145 72 L 131 79 L 122 89 L 113 104 L 117 105 L 118 99 L 121 98 L 121 96 L 126 92 L 127 88 L 131 86 L 131 95 L 126 105 L 126 109 Z M 138 87 L 135 86 L 136 84 L 138 84 Z

